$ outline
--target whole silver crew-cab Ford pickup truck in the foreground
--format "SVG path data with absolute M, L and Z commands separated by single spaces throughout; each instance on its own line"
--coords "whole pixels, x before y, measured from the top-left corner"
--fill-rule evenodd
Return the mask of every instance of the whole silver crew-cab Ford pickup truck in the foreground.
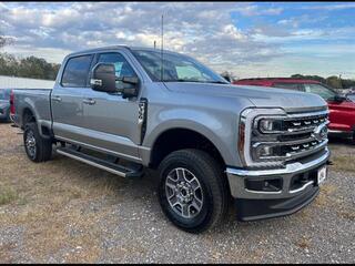
M 11 94 L 28 157 L 55 152 L 113 174 L 159 172 L 159 202 L 199 233 L 235 203 L 240 221 L 292 214 L 326 177 L 327 105 L 320 96 L 235 86 L 196 60 L 109 47 L 68 55 L 52 90 Z

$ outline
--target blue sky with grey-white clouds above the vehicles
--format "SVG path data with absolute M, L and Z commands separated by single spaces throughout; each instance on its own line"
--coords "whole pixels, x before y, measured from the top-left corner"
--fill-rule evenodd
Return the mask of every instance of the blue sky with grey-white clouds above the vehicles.
M 160 45 L 239 78 L 355 79 L 355 2 L 0 2 L 3 49 L 60 63 L 72 51 Z

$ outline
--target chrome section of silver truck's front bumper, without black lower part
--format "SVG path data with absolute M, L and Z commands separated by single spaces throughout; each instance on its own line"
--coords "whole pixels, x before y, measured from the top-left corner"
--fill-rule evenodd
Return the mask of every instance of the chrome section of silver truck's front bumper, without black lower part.
M 325 153 L 312 160 L 311 162 L 302 163 L 295 162 L 287 164 L 285 168 L 278 170 L 239 170 L 239 168 L 226 168 L 226 174 L 230 183 L 231 194 L 234 198 L 245 200 L 277 200 L 277 198 L 290 198 L 295 197 L 300 194 L 305 193 L 307 190 L 312 190 L 316 184 L 314 181 L 308 181 L 302 187 L 297 190 L 291 190 L 292 178 L 302 173 L 307 173 L 312 170 L 325 165 L 328 161 L 331 152 L 325 149 Z M 282 190 L 277 192 L 266 191 L 250 191 L 245 187 L 245 180 L 263 180 L 263 178 L 282 178 Z

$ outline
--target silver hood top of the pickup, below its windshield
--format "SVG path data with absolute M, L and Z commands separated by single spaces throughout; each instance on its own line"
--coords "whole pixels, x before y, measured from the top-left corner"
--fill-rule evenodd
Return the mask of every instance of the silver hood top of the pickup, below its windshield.
M 318 95 L 268 86 L 212 84 L 197 82 L 165 82 L 174 92 L 211 95 L 214 98 L 244 98 L 257 108 L 282 108 L 286 112 L 315 111 L 326 108 Z

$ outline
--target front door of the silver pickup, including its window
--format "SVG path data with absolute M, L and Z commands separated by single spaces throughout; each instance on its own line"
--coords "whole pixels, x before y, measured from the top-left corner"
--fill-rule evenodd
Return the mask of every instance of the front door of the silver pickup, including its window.
M 119 52 L 97 54 L 97 63 L 112 63 L 116 78 L 136 76 L 135 71 Z M 116 81 L 116 86 L 121 81 Z M 133 161 L 139 160 L 139 98 L 123 99 L 121 93 L 88 90 L 83 95 L 85 143 L 102 151 Z

